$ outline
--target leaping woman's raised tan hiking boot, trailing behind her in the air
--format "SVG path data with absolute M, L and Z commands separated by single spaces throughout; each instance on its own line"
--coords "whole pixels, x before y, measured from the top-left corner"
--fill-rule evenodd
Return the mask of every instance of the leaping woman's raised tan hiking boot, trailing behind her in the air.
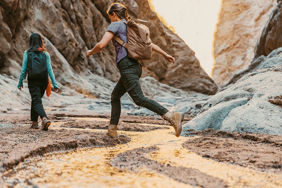
M 183 112 L 166 112 L 164 115 L 162 115 L 162 118 L 170 122 L 170 125 L 173 126 L 175 129 L 175 136 L 179 137 L 181 130 L 182 130 L 181 122 L 184 119 L 184 113 Z

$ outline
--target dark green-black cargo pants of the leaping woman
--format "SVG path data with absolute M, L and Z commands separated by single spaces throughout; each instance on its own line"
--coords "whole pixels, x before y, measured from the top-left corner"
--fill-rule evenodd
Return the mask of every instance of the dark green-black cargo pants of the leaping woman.
M 145 107 L 159 115 L 163 115 L 168 110 L 160 105 L 154 99 L 144 96 L 139 78 L 142 75 L 142 65 L 138 60 L 124 57 L 118 62 L 118 70 L 120 71 L 120 78 L 117 85 L 114 87 L 111 96 L 111 124 L 118 124 L 121 103 L 120 98 L 128 92 L 129 96 L 133 99 L 136 105 Z

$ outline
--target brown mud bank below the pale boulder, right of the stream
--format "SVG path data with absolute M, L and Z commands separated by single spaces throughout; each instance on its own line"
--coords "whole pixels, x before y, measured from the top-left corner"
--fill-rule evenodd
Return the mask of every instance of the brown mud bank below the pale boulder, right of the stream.
M 203 157 L 259 170 L 282 168 L 282 136 L 207 129 L 191 132 L 183 147 Z

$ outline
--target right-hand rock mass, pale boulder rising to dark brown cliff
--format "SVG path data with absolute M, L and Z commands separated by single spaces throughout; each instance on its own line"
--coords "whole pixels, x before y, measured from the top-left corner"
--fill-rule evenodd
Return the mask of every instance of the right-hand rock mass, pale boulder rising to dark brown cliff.
M 207 128 L 282 135 L 282 1 L 277 3 L 252 63 L 202 105 L 196 118 L 183 125 L 182 135 L 189 129 Z

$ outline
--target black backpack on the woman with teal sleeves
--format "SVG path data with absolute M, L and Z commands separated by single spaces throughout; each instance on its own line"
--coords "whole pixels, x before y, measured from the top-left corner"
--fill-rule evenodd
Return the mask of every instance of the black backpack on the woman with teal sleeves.
M 29 78 L 46 78 L 47 58 L 44 51 L 35 50 L 28 53 L 27 71 Z

